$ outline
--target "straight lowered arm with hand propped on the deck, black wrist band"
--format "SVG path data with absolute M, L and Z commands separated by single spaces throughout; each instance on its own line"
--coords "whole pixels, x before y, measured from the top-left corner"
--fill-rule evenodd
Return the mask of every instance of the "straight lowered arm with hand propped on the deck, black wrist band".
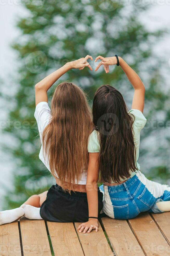
M 99 164 L 98 164 L 99 153 L 89 153 L 89 161 L 87 168 L 87 182 L 86 182 L 86 193 L 89 209 L 89 217 L 98 217 L 98 186 L 97 181 L 99 178 Z M 90 232 L 92 229 L 98 231 L 98 220 L 89 218 L 87 222 L 79 225 L 79 232 L 83 233 Z

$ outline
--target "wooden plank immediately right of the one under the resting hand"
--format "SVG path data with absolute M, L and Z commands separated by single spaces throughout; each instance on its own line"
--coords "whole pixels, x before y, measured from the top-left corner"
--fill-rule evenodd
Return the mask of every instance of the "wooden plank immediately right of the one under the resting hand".
M 126 220 L 102 218 L 102 224 L 117 256 L 145 255 Z

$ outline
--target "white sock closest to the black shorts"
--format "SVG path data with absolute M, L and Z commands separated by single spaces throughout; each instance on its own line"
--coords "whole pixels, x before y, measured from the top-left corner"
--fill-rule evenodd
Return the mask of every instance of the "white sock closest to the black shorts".
M 40 208 L 32 205 L 21 205 L 21 207 L 24 209 L 24 216 L 27 219 L 42 219 L 40 216 Z

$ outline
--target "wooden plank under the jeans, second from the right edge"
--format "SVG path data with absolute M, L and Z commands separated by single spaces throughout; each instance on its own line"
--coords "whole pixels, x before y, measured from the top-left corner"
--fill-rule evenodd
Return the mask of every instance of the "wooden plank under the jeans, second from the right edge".
M 128 222 L 146 255 L 170 255 L 170 247 L 149 213 L 139 214 Z

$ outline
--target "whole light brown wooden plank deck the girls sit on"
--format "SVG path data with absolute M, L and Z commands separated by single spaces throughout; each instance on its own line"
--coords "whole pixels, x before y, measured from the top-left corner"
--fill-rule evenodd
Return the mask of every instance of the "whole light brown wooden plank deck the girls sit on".
M 77 232 L 79 223 L 21 219 L 0 226 L 0 255 L 170 255 L 170 212 L 131 220 L 102 218 L 99 231 Z

